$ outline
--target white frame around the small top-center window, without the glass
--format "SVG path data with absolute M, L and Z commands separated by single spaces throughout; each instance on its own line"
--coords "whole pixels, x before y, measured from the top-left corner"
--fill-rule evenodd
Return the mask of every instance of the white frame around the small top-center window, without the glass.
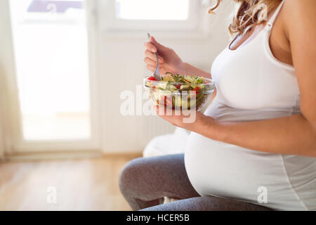
M 159 0 L 157 0 L 159 1 Z M 187 20 L 124 20 L 116 17 L 114 0 L 99 0 L 100 29 L 105 34 L 122 32 L 197 32 L 201 26 L 202 0 L 190 0 Z

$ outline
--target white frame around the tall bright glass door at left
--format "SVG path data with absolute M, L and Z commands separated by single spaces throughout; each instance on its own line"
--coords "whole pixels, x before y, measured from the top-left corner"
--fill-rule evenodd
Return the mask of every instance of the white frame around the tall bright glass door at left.
M 5 0 L 5 6 L 10 6 L 9 1 Z M 77 150 L 100 150 L 100 109 L 98 108 L 98 75 L 97 75 L 97 58 L 98 57 L 98 32 L 96 23 L 96 1 L 85 0 L 86 6 L 86 20 L 87 20 L 87 34 L 88 34 L 88 63 L 89 63 L 89 80 L 90 80 L 90 122 L 91 122 L 91 138 L 90 139 L 69 139 L 69 140 L 47 140 L 47 141 L 27 141 L 22 134 L 22 115 L 20 110 L 20 103 L 18 100 L 18 86 L 16 82 L 16 69 L 14 57 L 10 65 L 14 68 L 8 70 L 14 71 L 13 74 L 5 74 L 8 80 L 6 84 L 7 89 L 11 92 L 11 98 L 8 99 L 11 108 L 6 110 L 6 116 L 9 117 L 8 126 L 10 127 L 10 149 L 6 153 L 28 153 L 28 152 L 44 152 L 44 151 L 77 151 Z M 8 8 L 0 8 L 8 10 Z M 5 13 L 8 17 L 6 20 L 11 21 L 11 13 Z M 11 26 L 4 31 L 13 38 Z M 9 37 L 8 37 L 9 38 Z M 11 51 L 14 55 L 14 46 Z

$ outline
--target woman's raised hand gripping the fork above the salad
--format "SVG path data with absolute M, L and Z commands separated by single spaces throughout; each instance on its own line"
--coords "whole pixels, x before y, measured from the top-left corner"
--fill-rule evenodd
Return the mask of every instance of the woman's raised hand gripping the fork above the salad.
M 173 49 L 159 44 L 154 37 L 150 37 L 150 41 L 145 42 L 145 63 L 147 69 L 154 72 L 157 66 L 157 60 L 154 53 L 157 53 L 159 60 L 159 72 L 166 75 L 166 72 L 183 73 L 184 63 Z

